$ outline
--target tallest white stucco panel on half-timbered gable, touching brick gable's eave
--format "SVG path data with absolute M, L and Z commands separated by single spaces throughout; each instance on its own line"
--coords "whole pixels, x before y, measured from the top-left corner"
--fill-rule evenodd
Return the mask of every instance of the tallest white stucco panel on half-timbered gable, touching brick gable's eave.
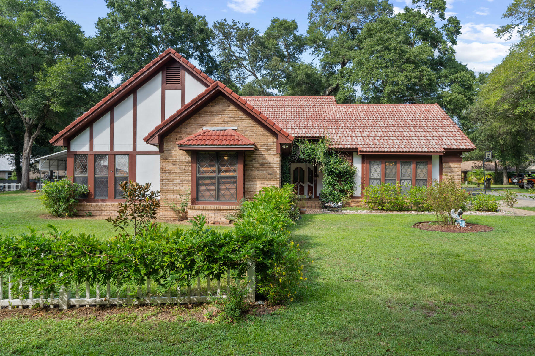
M 162 73 L 137 89 L 137 151 L 157 151 L 158 147 L 148 145 L 143 137 L 162 122 Z

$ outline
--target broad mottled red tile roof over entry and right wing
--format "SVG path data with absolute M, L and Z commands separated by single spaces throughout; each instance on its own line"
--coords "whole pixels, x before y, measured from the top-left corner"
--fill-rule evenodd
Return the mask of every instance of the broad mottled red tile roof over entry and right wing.
M 243 97 L 297 138 L 328 135 L 361 152 L 472 151 L 438 104 L 343 104 L 334 97 Z

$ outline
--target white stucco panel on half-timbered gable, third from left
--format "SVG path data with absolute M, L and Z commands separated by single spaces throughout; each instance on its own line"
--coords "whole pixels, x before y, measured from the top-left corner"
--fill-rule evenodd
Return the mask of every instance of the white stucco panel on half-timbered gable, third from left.
M 113 150 L 132 151 L 134 98 L 131 94 L 113 109 Z

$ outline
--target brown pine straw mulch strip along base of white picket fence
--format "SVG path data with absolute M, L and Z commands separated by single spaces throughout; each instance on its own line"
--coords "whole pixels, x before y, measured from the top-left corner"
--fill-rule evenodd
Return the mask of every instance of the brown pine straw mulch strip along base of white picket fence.
M 280 305 L 249 305 L 244 313 L 246 316 L 259 316 L 271 314 L 280 308 Z M 186 322 L 197 320 L 199 322 L 213 322 L 219 314 L 219 309 L 213 304 L 181 304 L 181 305 L 159 305 L 159 306 L 102 306 L 102 307 L 70 307 L 67 310 L 59 308 L 44 307 L 34 308 L 8 308 L 0 309 L 0 320 L 21 319 L 21 320 L 116 320 L 116 321 L 178 321 Z

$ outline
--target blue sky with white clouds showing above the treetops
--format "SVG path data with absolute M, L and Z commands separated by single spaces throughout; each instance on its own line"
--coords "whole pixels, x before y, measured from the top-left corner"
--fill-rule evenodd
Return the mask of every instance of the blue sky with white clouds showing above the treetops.
M 52 0 L 53 1 L 53 0 Z M 402 11 L 411 0 L 390 0 L 395 11 Z M 489 71 L 506 56 L 513 41 L 494 37 L 494 30 L 507 23 L 502 14 L 511 0 L 447 0 L 446 15 L 461 21 L 462 35 L 456 46 L 457 59 L 476 72 Z M 88 35 L 95 34 L 98 17 L 105 16 L 104 0 L 56 0 L 68 18 L 79 23 Z M 311 0 L 223 0 L 181 1 L 195 14 L 205 15 L 210 25 L 220 19 L 250 22 L 263 31 L 273 17 L 295 19 L 302 33 L 308 27 Z

